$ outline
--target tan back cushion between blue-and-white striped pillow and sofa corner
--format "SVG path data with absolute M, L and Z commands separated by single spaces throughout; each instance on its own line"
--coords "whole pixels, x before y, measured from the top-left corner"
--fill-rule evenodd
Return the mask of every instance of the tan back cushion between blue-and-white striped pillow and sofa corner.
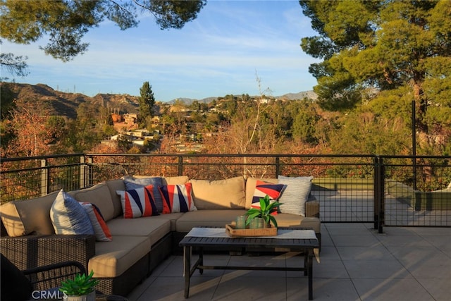
M 105 182 L 94 185 L 91 188 L 69 192 L 69 195 L 72 195 L 78 202 L 96 205 L 101 215 L 104 216 L 105 221 L 113 219 L 115 211 L 113 199 Z

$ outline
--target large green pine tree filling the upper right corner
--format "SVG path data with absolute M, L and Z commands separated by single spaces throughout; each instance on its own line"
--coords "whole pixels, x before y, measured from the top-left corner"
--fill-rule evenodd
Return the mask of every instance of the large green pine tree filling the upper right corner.
M 301 46 L 323 59 L 309 68 L 323 108 L 351 109 L 362 101 L 378 102 L 382 91 L 383 97 L 395 96 L 406 87 L 405 96 L 416 101 L 421 133 L 428 135 L 436 122 L 450 128 L 451 1 L 299 4 L 319 33 L 304 37 Z M 436 109 L 433 116 L 429 106 Z

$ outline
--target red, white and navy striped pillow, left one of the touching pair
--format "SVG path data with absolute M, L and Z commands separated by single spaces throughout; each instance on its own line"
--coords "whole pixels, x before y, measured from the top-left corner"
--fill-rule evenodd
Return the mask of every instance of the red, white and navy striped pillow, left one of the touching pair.
M 121 196 L 121 204 L 124 219 L 159 215 L 155 206 L 154 185 L 132 190 L 116 190 Z

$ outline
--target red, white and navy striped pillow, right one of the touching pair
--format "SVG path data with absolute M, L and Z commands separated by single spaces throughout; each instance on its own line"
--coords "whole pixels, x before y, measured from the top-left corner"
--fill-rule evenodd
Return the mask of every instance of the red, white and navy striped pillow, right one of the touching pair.
M 192 184 L 163 185 L 159 188 L 163 197 L 163 214 L 197 211 L 192 197 Z

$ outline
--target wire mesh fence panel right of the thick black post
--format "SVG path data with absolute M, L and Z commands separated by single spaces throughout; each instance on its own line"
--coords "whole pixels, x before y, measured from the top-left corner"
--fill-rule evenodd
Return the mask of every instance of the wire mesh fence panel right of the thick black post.
M 451 166 L 385 160 L 385 226 L 451 226 Z

